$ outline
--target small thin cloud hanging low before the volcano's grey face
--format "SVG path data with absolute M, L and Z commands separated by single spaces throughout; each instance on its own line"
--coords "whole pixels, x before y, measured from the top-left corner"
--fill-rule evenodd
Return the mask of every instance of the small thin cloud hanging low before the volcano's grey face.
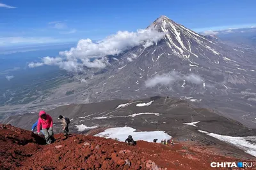
M 196 74 L 180 74 L 173 71 L 170 74 L 157 74 L 153 78 L 150 78 L 145 81 L 146 87 L 156 87 L 157 85 L 168 86 L 174 83 L 175 81 L 186 80 L 191 83 L 200 84 L 202 83 L 202 78 Z

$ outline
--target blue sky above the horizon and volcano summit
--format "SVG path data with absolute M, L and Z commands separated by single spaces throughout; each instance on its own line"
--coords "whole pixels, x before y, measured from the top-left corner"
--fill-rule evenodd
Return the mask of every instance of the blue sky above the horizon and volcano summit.
M 0 46 L 66 43 L 136 31 L 166 15 L 194 31 L 256 25 L 255 0 L 0 0 Z

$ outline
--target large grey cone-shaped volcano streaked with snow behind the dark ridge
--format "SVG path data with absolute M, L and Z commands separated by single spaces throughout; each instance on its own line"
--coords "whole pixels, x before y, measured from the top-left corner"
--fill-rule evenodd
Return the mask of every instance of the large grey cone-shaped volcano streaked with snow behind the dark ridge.
M 218 108 L 221 114 L 255 127 L 254 53 L 209 40 L 164 16 L 148 28 L 152 27 L 165 32 L 164 38 L 152 46 L 132 48 L 106 73 L 86 81 L 86 102 L 190 97 L 199 106 Z

